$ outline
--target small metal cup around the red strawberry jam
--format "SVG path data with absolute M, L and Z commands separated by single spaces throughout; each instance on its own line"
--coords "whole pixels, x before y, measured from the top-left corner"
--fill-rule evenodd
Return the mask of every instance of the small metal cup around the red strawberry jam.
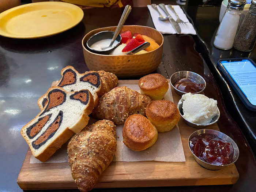
M 212 165 L 210 163 L 207 163 L 207 162 L 204 162 L 203 160 L 199 159 L 198 157 L 196 157 L 196 155 L 193 153 L 193 151 L 191 150 L 190 146 L 189 146 L 189 141 L 194 137 L 194 136 L 197 136 L 197 135 L 200 135 L 200 134 L 211 134 L 211 135 L 217 135 L 219 138 L 225 140 L 226 142 L 229 142 L 232 144 L 233 148 L 234 148 L 234 156 L 233 156 L 233 159 L 232 161 L 228 164 L 228 165 Z M 233 139 L 231 139 L 229 136 L 227 136 L 226 134 L 220 132 L 220 131 L 216 131 L 214 129 L 200 129 L 200 130 L 197 130 L 195 132 L 193 132 L 189 138 L 188 138 L 188 147 L 189 147 L 189 150 L 191 151 L 191 153 L 193 154 L 194 156 L 194 159 L 196 160 L 196 162 L 201 165 L 202 167 L 206 168 L 206 169 L 210 169 L 210 170 L 219 170 L 219 169 L 222 169 L 226 166 L 229 166 L 231 164 L 233 164 L 234 162 L 237 161 L 238 159 L 238 156 L 239 156 L 239 149 L 237 147 L 237 144 L 233 141 Z

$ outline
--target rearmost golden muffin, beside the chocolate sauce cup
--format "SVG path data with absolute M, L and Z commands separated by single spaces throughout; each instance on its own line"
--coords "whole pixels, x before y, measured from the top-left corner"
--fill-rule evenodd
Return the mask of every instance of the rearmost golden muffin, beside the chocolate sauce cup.
M 160 74 L 146 75 L 139 80 L 140 93 L 148 95 L 151 99 L 160 100 L 165 96 L 169 84 Z

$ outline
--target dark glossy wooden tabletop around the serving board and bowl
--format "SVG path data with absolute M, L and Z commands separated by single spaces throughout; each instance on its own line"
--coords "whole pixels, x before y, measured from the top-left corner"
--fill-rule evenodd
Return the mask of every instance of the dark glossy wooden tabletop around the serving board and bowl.
M 39 112 L 37 99 L 45 93 L 53 80 L 60 78 L 60 70 L 63 67 L 72 65 L 79 72 L 88 70 L 82 53 L 82 37 L 93 29 L 116 25 L 122 12 L 123 9 L 107 8 L 85 10 L 84 19 L 79 25 L 49 38 L 22 40 L 0 37 L 0 191 L 21 191 L 16 184 L 16 178 L 27 151 L 27 144 L 20 135 L 20 128 Z M 217 19 L 215 15 L 213 17 L 215 18 L 212 19 Z M 125 24 L 154 27 L 147 8 L 133 8 Z M 200 25 L 200 21 L 196 23 L 197 25 Z M 204 29 L 200 29 L 200 33 L 204 34 Z M 211 37 L 212 35 L 208 34 Z M 164 35 L 162 62 L 157 72 L 168 78 L 176 71 L 191 70 L 206 79 L 205 93 L 208 97 L 218 100 L 221 111 L 219 128 L 231 136 L 240 149 L 240 157 L 236 162 L 240 174 L 237 183 L 221 186 L 94 189 L 93 191 L 255 190 L 256 161 L 251 148 L 225 107 L 223 90 L 220 91 L 215 80 L 218 77 L 212 75 L 211 63 L 206 62 L 194 49 L 195 41 L 198 41 L 197 37 L 191 35 Z M 197 43 L 200 45 L 200 42 Z

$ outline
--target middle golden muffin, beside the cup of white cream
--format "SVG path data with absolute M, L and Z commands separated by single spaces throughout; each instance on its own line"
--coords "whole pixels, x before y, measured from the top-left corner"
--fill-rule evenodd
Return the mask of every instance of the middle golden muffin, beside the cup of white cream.
M 180 120 L 177 106 L 166 100 L 151 101 L 146 107 L 146 115 L 158 132 L 170 131 Z

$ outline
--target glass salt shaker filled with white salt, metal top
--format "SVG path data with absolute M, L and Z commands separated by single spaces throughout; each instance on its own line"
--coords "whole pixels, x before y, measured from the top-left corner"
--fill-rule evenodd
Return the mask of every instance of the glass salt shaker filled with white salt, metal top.
M 219 49 L 231 49 L 240 23 L 246 0 L 229 0 L 227 9 L 214 38 L 213 45 Z

